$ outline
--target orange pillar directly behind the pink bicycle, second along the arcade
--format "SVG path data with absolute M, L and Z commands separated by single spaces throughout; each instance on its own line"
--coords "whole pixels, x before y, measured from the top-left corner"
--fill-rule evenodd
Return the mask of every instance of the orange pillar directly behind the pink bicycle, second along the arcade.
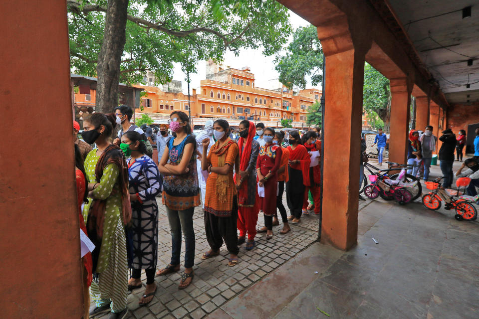
M 407 78 L 391 79 L 391 121 L 389 161 L 406 163 L 412 85 Z

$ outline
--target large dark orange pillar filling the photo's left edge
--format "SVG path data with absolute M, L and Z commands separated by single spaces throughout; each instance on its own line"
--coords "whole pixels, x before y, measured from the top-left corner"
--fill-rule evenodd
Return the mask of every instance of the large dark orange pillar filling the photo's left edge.
M 65 2 L 2 1 L 0 29 L 0 317 L 79 319 Z

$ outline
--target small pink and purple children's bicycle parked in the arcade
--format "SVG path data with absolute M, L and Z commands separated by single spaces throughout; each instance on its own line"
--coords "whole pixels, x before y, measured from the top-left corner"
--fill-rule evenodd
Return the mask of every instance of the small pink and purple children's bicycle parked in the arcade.
M 385 172 L 377 172 L 369 175 L 369 180 L 372 184 L 364 188 L 364 194 L 370 199 L 382 198 L 395 199 L 399 204 L 406 205 L 413 199 L 413 194 L 405 187 L 398 186 L 399 180 L 392 180 L 388 178 L 389 169 Z

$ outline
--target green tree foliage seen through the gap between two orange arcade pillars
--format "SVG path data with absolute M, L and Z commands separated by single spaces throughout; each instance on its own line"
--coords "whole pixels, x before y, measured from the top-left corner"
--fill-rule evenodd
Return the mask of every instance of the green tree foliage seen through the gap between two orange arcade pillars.
M 378 70 L 366 63 L 364 65 L 363 111 L 373 116 L 376 113 L 389 129 L 391 91 L 389 80 Z

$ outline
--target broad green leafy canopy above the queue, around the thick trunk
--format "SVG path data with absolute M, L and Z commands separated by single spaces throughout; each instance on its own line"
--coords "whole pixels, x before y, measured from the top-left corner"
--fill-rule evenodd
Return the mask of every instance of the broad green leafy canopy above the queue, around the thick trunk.
M 105 28 L 106 1 L 76 7 L 67 0 L 71 67 L 96 76 L 96 61 Z M 143 81 L 147 70 L 157 83 L 173 77 L 175 62 L 196 73 L 196 62 L 222 61 L 228 48 L 263 48 L 277 53 L 290 33 L 287 9 L 275 0 L 130 0 L 120 82 Z

